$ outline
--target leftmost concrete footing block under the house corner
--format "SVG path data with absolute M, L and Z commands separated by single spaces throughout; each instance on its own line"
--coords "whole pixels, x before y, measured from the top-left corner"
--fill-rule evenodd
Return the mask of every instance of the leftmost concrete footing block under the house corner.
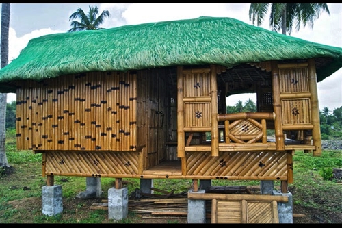
M 55 216 L 62 212 L 62 186 L 42 186 L 42 214 Z

